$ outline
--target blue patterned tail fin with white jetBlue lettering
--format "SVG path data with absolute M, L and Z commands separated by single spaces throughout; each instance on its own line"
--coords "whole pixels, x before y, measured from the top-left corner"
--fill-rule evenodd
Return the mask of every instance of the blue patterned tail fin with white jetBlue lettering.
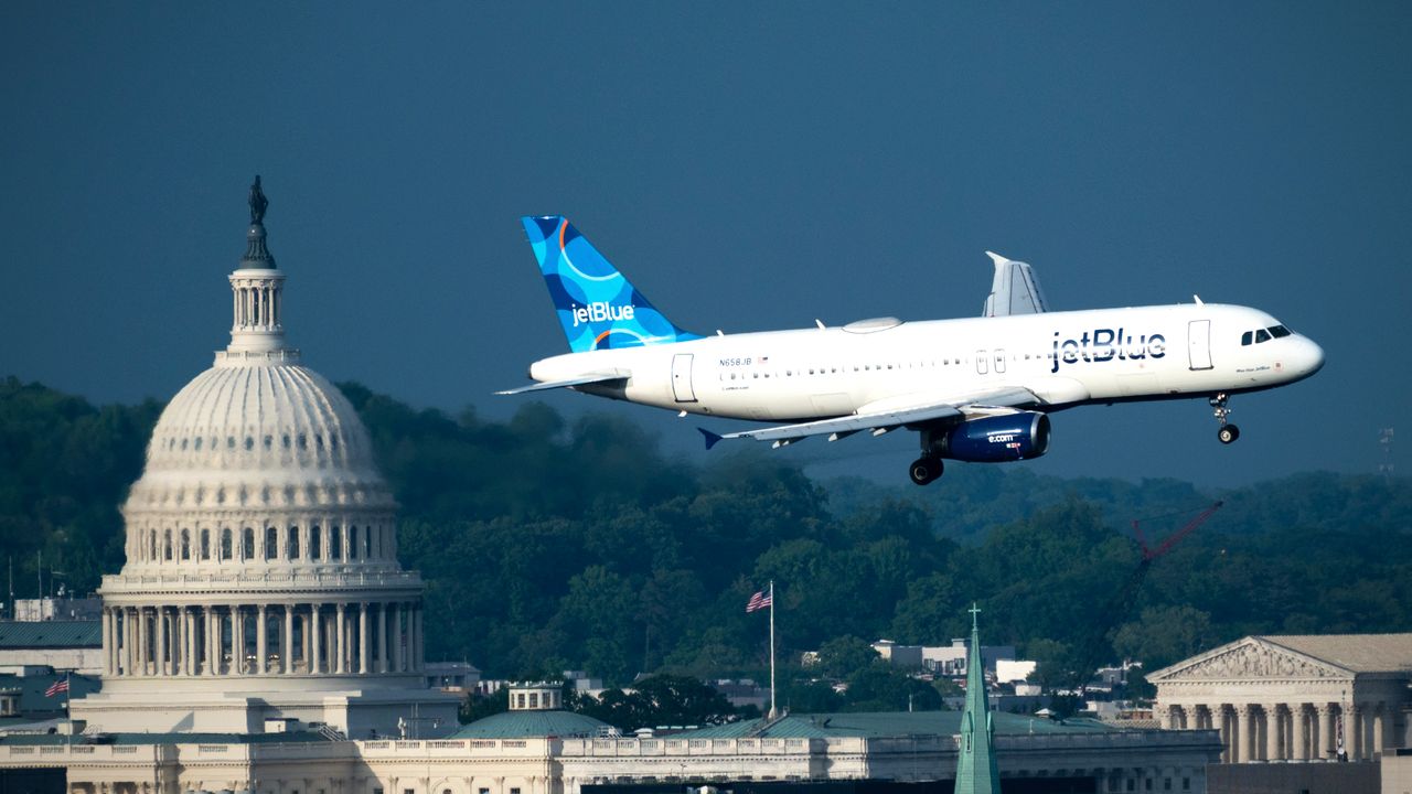
M 562 215 L 520 220 L 575 353 L 700 339 L 652 308 Z

